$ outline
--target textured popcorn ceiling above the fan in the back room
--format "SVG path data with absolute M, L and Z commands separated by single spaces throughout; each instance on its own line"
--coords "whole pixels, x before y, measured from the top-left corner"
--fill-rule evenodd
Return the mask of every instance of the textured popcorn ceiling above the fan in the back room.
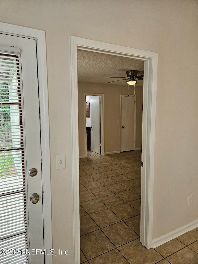
M 108 83 L 119 80 L 112 77 L 126 77 L 126 71 L 137 70 L 138 75 L 143 74 L 144 62 L 131 58 L 108 55 L 96 52 L 77 51 L 78 81 L 93 83 Z M 110 84 L 128 85 L 126 80 Z M 138 80 L 137 85 L 143 85 L 143 80 Z

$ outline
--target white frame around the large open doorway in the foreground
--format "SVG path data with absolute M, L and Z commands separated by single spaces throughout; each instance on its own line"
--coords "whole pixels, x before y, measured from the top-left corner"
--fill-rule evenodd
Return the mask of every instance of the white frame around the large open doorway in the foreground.
M 74 202 L 74 249 L 75 263 L 80 263 L 80 214 L 79 214 L 79 160 L 78 160 L 78 80 L 77 49 L 112 54 L 144 61 L 143 127 L 142 127 L 142 183 L 140 242 L 152 248 L 153 235 L 153 180 L 155 112 L 157 89 L 157 57 L 155 52 L 93 41 L 71 36 L 71 107 L 72 107 L 72 167 Z

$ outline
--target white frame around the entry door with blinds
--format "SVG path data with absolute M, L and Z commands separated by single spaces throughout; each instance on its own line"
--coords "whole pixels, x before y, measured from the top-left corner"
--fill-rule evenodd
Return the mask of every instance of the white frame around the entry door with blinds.
M 37 42 L 37 67 L 42 153 L 41 164 L 43 190 L 44 248 L 49 250 L 52 249 L 52 220 L 45 31 L 0 22 L 0 33 L 18 37 L 28 37 L 31 39 L 35 39 Z M 52 255 L 45 255 L 45 263 L 52 264 Z

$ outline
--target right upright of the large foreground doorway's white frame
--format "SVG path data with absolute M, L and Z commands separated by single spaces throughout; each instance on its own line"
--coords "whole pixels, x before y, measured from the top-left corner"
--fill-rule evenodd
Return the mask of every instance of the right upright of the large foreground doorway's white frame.
M 157 90 L 158 54 L 151 54 L 144 62 L 143 122 L 142 122 L 142 161 L 141 168 L 141 218 L 140 242 L 152 248 L 153 237 L 153 184 L 154 184 L 154 145 Z M 144 234 L 144 235 L 143 235 Z

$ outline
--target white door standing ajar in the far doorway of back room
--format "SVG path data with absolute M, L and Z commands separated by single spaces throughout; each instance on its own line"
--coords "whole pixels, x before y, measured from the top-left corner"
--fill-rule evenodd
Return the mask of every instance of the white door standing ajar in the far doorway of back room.
M 91 150 L 101 154 L 100 147 L 100 96 L 90 98 Z

